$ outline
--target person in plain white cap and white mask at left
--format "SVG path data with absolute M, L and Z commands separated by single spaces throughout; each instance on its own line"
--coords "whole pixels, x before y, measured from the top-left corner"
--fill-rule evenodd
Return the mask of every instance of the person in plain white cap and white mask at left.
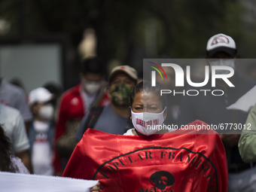
M 29 93 L 29 106 L 34 120 L 29 129 L 32 167 L 36 175 L 53 175 L 52 139 L 54 132 L 53 94 L 44 87 Z

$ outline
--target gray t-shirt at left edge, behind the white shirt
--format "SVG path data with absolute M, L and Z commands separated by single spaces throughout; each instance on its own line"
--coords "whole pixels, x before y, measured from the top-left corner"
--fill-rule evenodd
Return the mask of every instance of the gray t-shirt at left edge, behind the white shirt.
M 0 78 L 0 102 L 17 108 L 23 116 L 23 120 L 32 120 L 32 114 L 26 102 L 26 94 L 20 87 L 9 84 L 4 78 Z

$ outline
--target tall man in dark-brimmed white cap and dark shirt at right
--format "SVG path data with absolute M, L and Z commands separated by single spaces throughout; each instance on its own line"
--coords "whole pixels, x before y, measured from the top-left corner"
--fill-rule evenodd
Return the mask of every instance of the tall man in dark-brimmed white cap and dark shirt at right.
M 254 89 L 256 82 L 241 77 L 236 72 L 236 67 L 239 65 L 236 59 L 239 58 L 239 54 L 236 50 L 235 41 L 228 35 L 218 34 L 209 38 L 206 46 L 206 58 L 210 67 L 229 66 L 234 69 L 235 73 L 233 77 L 228 78 L 234 87 L 229 87 L 221 78 L 216 79 L 216 86 L 212 87 L 212 78 L 209 78 L 209 83 L 204 87 L 199 87 L 199 90 L 223 90 L 224 95 L 213 96 L 209 94 L 204 96 L 202 94 L 198 96 L 184 96 L 181 101 L 181 114 L 179 115 L 178 124 L 185 125 L 197 119 L 215 126 L 221 124 L 227 126 L 228 123 L 227 130 L 222 129 L 217 131 L 225 133 L 220 136 L 226 149 L 229 173 L 239 173 L 250 168 L 250 165 L 243 163 L 239 155 L 238 141 L 241 131 L 240 133 L 233 132 L 231 134 L 230 125 L 236 124 L 243 126 L 248 116 L 248 111 L 244 111 L 242 108 L 234 108 L 233 106 L 238 103 L 240 98 L 246 96 L 250 90 Z M 216 70 L 216 74 L 219 75 L 229 73 L 227 70 Z M 187 87 L 187 90 L 195 89 L 197 87 Z M 236 129 L 235 126 L 231 128 L 232 130 Z M 231 183 L 230 181 L 229 184 Z

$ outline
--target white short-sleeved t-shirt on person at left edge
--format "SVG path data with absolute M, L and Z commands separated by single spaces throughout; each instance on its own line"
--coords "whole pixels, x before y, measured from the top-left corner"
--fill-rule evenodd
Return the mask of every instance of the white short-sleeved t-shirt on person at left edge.
M 29 150 L 29 139 L 20 111 L 0 103 L 0 123 L 11 141 L 13 154 Z

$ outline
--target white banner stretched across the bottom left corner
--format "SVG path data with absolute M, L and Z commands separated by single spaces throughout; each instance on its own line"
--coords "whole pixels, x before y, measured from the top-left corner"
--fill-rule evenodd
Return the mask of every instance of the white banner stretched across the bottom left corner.
M 98 181 L 0 172 L 1 192 L 89 192 Z

